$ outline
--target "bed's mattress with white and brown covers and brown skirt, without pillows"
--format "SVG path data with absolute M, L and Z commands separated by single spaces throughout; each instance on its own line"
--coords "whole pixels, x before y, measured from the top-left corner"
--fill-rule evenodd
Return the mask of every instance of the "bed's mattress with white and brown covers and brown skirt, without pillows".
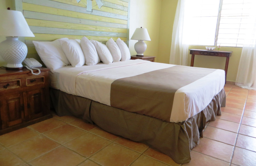
M 225 106 L 225 72 L 145 60 L 61 67 L 52 72 L 59 116 L 73 115 L 107 132 L 147 144 L 177 163 Z

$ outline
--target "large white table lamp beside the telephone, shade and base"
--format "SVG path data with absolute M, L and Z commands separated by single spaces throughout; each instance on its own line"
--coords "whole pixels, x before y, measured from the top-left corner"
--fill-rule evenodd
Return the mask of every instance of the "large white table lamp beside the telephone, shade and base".
M 23 14 L 20 11 L 0 11 L 0 35 L 7 36 L 0 43 L 0 56 L 7 62 L 6 70 L 20 70 L 21 64 L 26 58 L 28 48 L 25 43 L 19 41 L 18 36 L 35 37 L 29 29 Z

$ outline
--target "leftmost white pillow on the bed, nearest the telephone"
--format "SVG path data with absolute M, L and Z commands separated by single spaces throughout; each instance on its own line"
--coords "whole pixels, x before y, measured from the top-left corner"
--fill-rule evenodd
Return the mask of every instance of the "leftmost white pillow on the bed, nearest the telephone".
M 68 38 L 62 39 L 67 40 Z M 51 72 L 70 64 L 61 48 L 59 40 L 60 39 L 55 41 L 32 41 L 39 57 Z

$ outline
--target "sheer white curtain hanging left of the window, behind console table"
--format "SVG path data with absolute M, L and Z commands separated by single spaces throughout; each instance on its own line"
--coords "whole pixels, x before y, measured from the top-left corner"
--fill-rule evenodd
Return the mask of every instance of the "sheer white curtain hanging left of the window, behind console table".
M 172 30 L 172 46 L 170 54 L 170 64 L 187 65 L 188 61 L 188 44 L 186 44 L 185 36 L 186 26 L 185 19 L 185 1 L 178 0 L 175 19 Z

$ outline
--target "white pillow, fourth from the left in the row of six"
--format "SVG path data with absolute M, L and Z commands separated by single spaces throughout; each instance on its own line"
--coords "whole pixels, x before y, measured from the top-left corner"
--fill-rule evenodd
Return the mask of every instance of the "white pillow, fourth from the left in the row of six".
M 113 57 L 110 51 L 108 50 L 108 47 L 105 44 L 100 43 L 99 41 L 90 41 L 94 44 L 100 57 L 100 60 L 103 62 L 103 64 L 111 64 L 113 62 Z

